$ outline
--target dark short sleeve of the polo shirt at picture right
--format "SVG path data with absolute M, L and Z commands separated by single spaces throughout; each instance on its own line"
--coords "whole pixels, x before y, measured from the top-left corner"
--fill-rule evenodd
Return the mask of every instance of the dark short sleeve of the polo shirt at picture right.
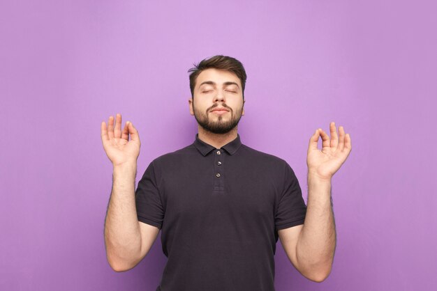
M 306 205 L 295 172 L 286 163 L 283 191 L 276 207 L 274 223 L 277 230 L 303 224 Z

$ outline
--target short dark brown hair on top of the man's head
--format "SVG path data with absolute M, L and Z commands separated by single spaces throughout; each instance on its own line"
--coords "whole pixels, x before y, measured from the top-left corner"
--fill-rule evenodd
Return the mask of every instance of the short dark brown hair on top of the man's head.
M 188 72 L 191 72 L 190 74 L 190 90 L 191 90 L 191 97 L 194 97 L 194 87 L 195 87 L 195 81 L 198 79 L 198 75 L 206 69 L 214 68 L 217 70 L 227 70 L 229 72 L 232 72 L 237 75 L 239 81 L 242 84 L 242 93 L 243 93 L 243 100 L 244 100 L 244 87 L 246 86 L 246 71 L 244 70 L 243 64 L 238 61 L 236 58 L 232 58 L 230 56 L 212 56 L 211 58 L 205 58 L 202 60 L 198 65 L 195 63 L 193 64 L 194 68 L 191 68 L 188 70 Z

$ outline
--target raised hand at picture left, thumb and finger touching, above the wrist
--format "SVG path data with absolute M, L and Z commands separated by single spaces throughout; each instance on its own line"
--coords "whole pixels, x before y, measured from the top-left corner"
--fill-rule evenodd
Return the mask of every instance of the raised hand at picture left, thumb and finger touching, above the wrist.
M 108 129 L 106 123 L 102 122 L 101 135 L 103 148 L 113 166 L 137 162 L 141 147 L 140 136 L 138 136 L 138 130 L 129 121 L 126 122 L 123 132 L 121 132 L 121 114 L 117 113 L 115 126 L 114 117 L 110 116 Z M 130 141 L 129 135 L 131 136 Z

